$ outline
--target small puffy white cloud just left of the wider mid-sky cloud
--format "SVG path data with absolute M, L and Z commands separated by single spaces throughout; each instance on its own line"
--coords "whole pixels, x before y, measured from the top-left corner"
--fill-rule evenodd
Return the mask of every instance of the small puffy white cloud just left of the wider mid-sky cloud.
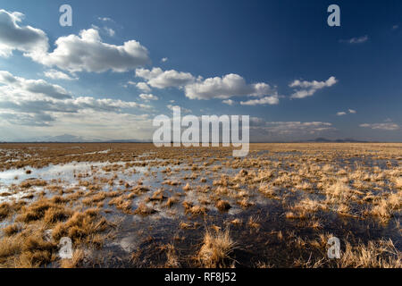
M 189 72 L 163 71 L 161 68 L 137 69 L 136 76 L 147 80 L 147 84 L 153 88 L 180 88 L 195 80 Z

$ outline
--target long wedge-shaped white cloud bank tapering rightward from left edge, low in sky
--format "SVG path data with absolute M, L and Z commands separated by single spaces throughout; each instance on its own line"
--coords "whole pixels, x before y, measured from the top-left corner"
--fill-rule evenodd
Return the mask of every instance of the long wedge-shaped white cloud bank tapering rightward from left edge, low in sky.
M 46 125 L 59 114 L 120 113 L 129 108 L 149 109 L 150 106 L 112 98 L 73 97 L 64 88 L 46 80 L 26 80 L 0 71 L 0 113 L 8 122 L 32 120 L 30 124 Z M 14 114 L 13 120 L 10 114 Z

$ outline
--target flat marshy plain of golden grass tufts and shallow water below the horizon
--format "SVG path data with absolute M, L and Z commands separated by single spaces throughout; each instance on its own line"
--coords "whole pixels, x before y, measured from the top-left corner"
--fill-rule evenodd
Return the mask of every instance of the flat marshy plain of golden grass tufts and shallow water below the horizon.
M 3 267 L 401 267 L 402 144 L 0 144 Z M 71 259 L 59 257 L 72 241 Z M 327 255 L 340 241 L 340 257 Z

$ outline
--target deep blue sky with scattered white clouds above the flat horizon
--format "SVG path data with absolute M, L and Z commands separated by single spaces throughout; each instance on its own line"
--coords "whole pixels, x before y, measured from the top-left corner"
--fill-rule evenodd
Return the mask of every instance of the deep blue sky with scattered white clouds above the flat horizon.
M 173 106 L 249 115 L 250 141 L 402 141 L 401 51 L 398 0 L 0 0 L 0 141 L 149 140 Z

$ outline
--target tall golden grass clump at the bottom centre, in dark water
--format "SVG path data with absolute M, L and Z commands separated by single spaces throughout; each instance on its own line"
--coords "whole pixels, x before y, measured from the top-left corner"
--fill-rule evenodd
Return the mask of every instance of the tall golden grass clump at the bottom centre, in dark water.
M 207 268 L 227 267 L 230 262 L 230 253 L 236 247 L 236 242 L 230 238 L 230 231 L 205 231 L 203 245 L 197 259 Z

